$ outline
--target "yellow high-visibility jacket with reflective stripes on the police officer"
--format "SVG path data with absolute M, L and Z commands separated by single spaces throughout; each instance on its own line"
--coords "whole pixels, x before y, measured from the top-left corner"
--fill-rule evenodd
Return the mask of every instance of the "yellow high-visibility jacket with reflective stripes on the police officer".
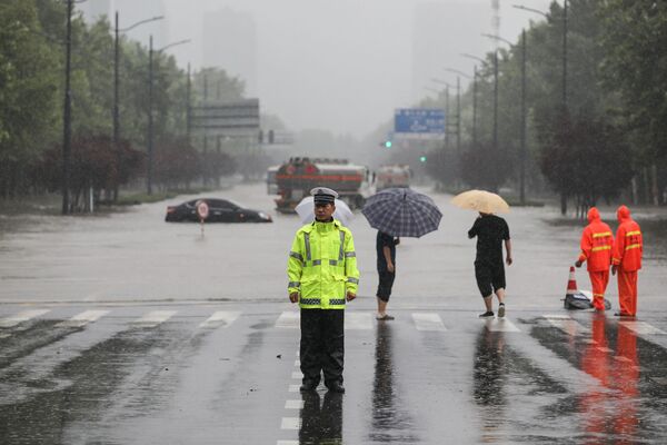
M 299 293 L 302 309 L 345 309 L 346 294 L 357 294 L 359 270 L 352 233 L 339 220 L 301 227 L 287 263 L 288 293 Z

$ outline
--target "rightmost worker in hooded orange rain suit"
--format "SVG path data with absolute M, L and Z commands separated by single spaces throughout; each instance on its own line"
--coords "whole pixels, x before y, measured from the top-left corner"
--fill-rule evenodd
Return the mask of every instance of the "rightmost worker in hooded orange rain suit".
M 618 230 L 611 257 L 611 274 L 618 271 L 619 317 L 637 315 L 637 270 L 641 268 L 644 241 L 639 225 L 630 217 L 630 209 L 620 206 L 616 210 Z

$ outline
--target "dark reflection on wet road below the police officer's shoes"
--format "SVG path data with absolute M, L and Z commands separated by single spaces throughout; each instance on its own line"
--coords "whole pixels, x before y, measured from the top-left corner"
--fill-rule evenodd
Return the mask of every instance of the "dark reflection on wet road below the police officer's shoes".
M 300 445 L 342 444 L 342 394 L 327 392 L 320 406 L 320 395 L 303 393 Z

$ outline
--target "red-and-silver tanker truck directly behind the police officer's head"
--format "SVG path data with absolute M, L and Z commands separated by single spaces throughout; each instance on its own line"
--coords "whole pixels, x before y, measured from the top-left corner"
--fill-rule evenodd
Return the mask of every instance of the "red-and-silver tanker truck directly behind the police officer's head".
M 336 190 L 350 208 L 361 208 L 368 195 L 368 168 L 346 159 L 290 158 L 276 172 L 278 195 L 276 209 L 293 212 L 295 207 L 315 187 Z

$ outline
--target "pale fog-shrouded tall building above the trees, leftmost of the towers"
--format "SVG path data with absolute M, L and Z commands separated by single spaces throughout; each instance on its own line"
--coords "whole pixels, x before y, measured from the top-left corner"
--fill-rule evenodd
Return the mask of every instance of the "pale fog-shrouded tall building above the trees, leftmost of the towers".
M 102 16 L 107 16 L 113 26 L 116 11 L 119 13 L 120 28 L 127 28 L 138 21 L 152 17 L 166 16 L 165 2 L 162 0 L 88 0 L 77 4 L 77 9 L 83 12 L 86 20 L 94 22 Z M 128 37 L 148 44 L 149 36 L 153 36 L 156 48 L 169 43 L 167 20 L 147 23 L 129 31 Z

